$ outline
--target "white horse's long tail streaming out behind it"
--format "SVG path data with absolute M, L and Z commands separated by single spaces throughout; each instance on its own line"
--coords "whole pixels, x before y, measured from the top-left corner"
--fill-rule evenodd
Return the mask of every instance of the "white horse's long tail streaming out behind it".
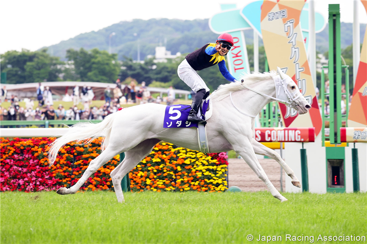
M 57 157 L 57 153 L 66 143 L 85 141 L 80 144 L 88 144 L 98 137 L 104 137 L 101 143 L 102 151 L 108 146 L 110 140 L 113 119 L 117 113 L 110 114 L 100 123 L 80 122 L 69 127 L 69 131 L 62 137 L 56 139 L 49 146 L 48 163 L 51 166 Z

